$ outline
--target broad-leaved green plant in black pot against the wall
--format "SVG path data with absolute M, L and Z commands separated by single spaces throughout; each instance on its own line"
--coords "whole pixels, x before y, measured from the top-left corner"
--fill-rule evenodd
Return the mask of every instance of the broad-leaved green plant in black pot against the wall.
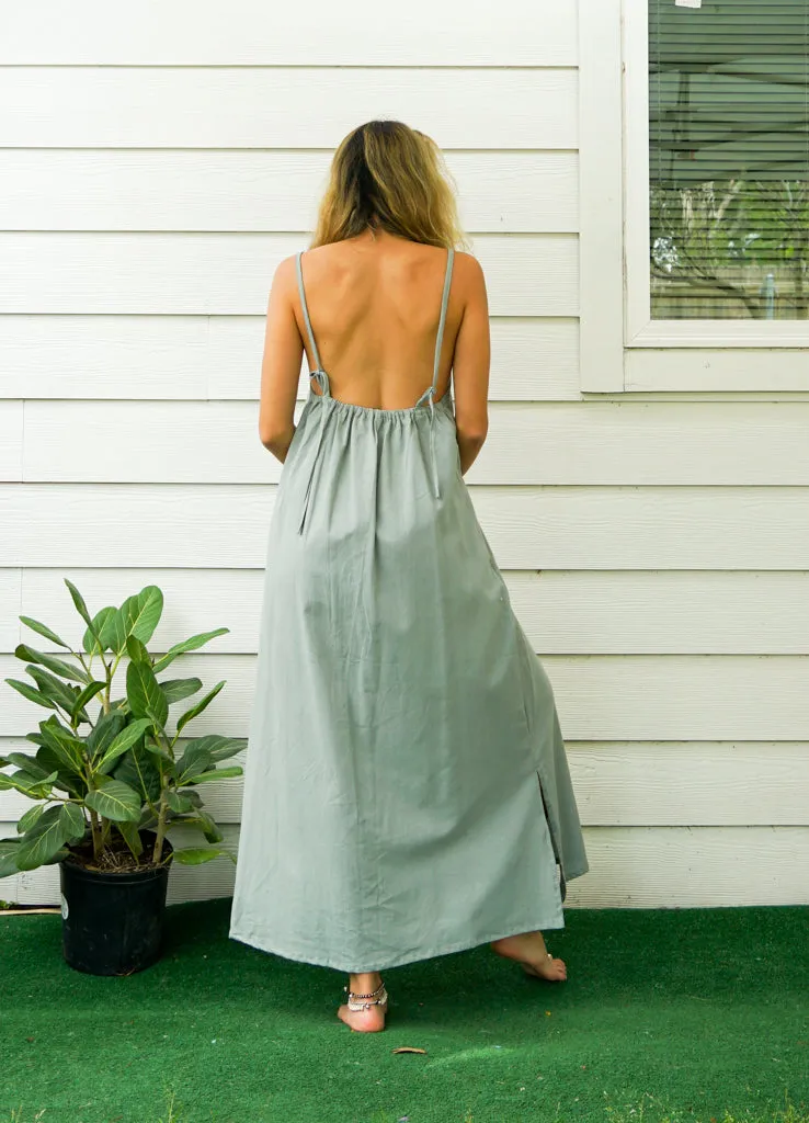
M 15 650 L 33 685 L 6 682 L 53 713 L 39 722 L 38 732 L 27 734 L 38 746 L 34 756 L 0 757 L 0 767 L 16 769 L 0 773 L 0 791 L 15 788 L 34 801 L 17 824 L 18 838 L 0 840 L 0 877 L 58 864 L 66 962 L 93 975 L 128 975 L 159 958 L 169 866 L 220 855 L 236 861 L 220 844 L 222 832 L 203 810 L 199 788 L 240 776 L 241 767 L 220 763 L 247 740 L 208 734 L 181 746 L 181 732 L 224 681 L 182 713 L 169 732 L 171 706 L 196 694 L 202 682 L 157 677 L 177 656 L 228 628 L 192 636 L 153 657 L 146 645 L 163 613 L 157 585 L 91 617 L 76 586 L 67 578 L 65 584 L 86 626 L 81 650 L 46 624 L 19 618 L 72 658 L 26 643 Z M 126 690 L 114 697 L 125 655 Z M 174 846 L 167 831 L 180 824 L 201 831 L 208 844 Z

